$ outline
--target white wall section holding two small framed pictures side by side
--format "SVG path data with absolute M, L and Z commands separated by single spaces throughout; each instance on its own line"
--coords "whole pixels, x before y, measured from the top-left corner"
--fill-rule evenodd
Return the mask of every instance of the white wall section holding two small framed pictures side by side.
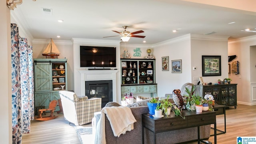
M 190 35 L 184 35 L 152 46 L 156 58 L 157 96 L 172 94 L 174 89 L 180 89 L 191 82 Z M 162 57 L 169 56 L 169 71 L 162 71 Z M 171 60 L 182 60 L 182 73 L 172 73 Z

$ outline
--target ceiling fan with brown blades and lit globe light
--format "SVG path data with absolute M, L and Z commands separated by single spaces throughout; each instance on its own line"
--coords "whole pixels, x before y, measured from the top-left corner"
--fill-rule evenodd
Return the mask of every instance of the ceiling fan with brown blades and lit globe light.
M 122 32 L 118 32 L 116 30 L 112 30 L 113 32 L 116 32 L 120 35 L 118 36 L 122 36 L 121 39 L 124 41 L 124 42 L 128 42 L 128 40 L 130 39 L 130 37 L 136 37 L 136 38 L 145 38 L 146 36 L 137 36 L 137 35 L 134 35 L 134 34 L 139 34 L 139 33 L 142 33 L 144 32 L 143 30 L 139 30 L 139 31 L 136 31 L 136 32 L 129 32 L 129 31 L 126 31 L 126 28 L 128 26 L 123 26 L 124 28 L 124 31 Z M 103 38 L 107 38 L 107 37 L 113 37 L 113 36 L 105 36 Z

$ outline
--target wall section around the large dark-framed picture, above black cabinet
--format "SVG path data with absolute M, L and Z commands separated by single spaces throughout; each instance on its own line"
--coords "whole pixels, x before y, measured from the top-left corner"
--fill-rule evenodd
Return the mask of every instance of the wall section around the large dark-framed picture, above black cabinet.
M 218 83 L 218 79 L 228 78 L 228 36 L 212 36 L 191 34 L 191 81 L 197 84 L 199 80 L 193 77 L 202 76 L 202 56 L 221 56 L 221 76 L 203 76 L 204 83 Z

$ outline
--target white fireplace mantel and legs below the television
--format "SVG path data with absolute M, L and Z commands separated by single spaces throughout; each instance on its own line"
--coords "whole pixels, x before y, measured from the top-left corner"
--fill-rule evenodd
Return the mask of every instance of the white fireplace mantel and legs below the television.
M 78 70 L 80 72 L 81 95 L 85 95 L 85 82 L 97 80 L 112 80 L 113 101 L 116 102 L 116 73 L 118 70 Z

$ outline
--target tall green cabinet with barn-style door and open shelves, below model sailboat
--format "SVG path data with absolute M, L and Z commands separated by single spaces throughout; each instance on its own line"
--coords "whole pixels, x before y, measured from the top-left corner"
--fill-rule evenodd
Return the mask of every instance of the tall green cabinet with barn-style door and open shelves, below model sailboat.
M 59 91 L 68 90 L 67 59 L 35 58 L 34 86 L 35 106 L 48 108 L 52 100 L 60 99 Z M 57 106 L 55 111 L 58 110 Z

